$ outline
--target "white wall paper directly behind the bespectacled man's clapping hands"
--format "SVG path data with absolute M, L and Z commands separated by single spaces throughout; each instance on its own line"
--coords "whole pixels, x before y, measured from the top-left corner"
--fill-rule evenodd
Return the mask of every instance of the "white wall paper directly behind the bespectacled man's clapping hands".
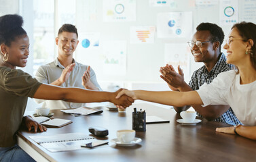
M 189 55 L 191 52 L 186 43 L 166 43 L 164 45 L 164 62 L 172 65 L 177 73 L 179 73 L 178 65 L 180 65 L 187 83 L 190 80 Z

